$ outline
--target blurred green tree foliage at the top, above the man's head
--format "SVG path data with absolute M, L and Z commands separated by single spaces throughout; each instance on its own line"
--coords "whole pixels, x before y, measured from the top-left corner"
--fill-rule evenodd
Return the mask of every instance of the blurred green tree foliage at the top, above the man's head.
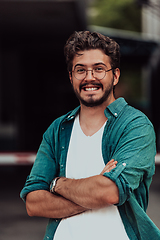
M 91 25 L 141 31 L 141 9 L 135 0 L 94 0 L 89 13 Z

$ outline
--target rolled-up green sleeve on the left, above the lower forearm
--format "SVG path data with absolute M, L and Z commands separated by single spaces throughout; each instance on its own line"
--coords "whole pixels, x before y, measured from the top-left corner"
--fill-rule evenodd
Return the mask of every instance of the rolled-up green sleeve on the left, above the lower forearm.
M 42 143 L 39 147 L 34 165 L 30 175 L 27 177 L 24 188 L 20 193 L 20 197 L 25 201 L 29 192 L 36 190 L 48 190 L 52 179 L 56 175 L 56 161 L 52 141 L 54 138 L 50 136 L 50 130 L 43 135 Z

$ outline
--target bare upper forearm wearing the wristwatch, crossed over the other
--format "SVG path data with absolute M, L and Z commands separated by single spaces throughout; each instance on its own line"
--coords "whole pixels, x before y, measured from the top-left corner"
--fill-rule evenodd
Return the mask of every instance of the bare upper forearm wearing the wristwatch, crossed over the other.
M 60 178 L 55 191 L 87 209 L 106 207 L 119 200 L 116 184 L 102 175 L 84 179 Z

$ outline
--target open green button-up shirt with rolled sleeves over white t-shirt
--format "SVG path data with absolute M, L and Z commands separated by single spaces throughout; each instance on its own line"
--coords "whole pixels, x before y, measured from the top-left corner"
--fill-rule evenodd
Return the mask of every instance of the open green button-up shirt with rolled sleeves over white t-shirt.
M 21 191 L 24 201 L 29 192 L 49 191 L 53 178 L 65 176 L 72 126 L 79 109 L 56 119 L 44 133 L 30 176 Z M 131 240 L 159 240 L 160 230 L 146 214 L 149 186 L 155 171 L 153 126 L 142 112 L 129 106 L 123 98 L 111 103 L 104 113 L 108 118 L 102 137 L 104 163 L 112 158 L 118 161 L 116 168 L 104 176 L 118 186 L 117 207 L 128 237 Z M 53 240 L 59 222 L 60 219 L 49 220 L 44 240 Z

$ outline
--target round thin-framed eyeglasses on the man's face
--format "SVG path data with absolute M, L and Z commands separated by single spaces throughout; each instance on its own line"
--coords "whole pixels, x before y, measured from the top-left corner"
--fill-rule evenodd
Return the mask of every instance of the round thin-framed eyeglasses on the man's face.
M 87 70 L 85 67 L 78 66 L 75 67 L 74 71 L 72 72 L 74 77 L 78 80 L 84 80 L 89 71 L 92 72 L 92 76 L 94 78 L 102 80 L 106 76 L 106 72 L 109 72 L 111 70 L 113 70 L 113 68 L 106 70 L 104 66 L 95 66 L 92 70 Z

